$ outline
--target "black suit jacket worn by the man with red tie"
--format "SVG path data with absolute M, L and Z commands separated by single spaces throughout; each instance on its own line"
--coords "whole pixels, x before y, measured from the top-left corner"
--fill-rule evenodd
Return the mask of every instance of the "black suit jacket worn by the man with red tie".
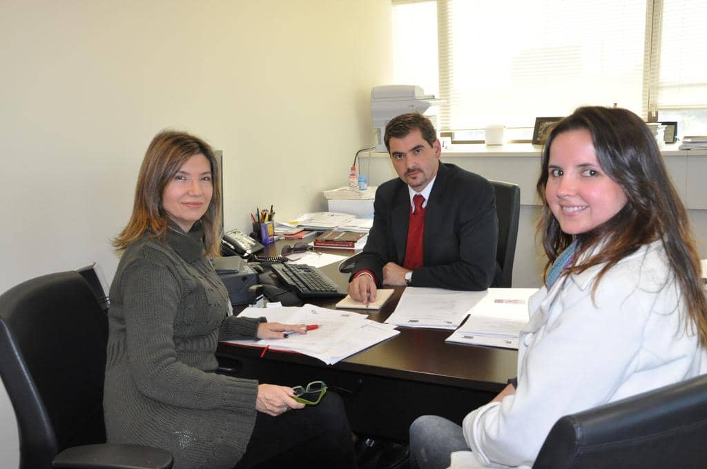
M 373 206 L 373 227 L 354 275 L 372 271 L 380 283 L 385 263 L 404 263 L 410 216 L 407 184 L 399 178 L 385 182 L 375 192 Z M 501 275 L 497 243 L 496 196 L 491 183 L 479 174 L 440 162 L 425 213 L 423 267 L 414 270 L 412 285 L 485 290 Z

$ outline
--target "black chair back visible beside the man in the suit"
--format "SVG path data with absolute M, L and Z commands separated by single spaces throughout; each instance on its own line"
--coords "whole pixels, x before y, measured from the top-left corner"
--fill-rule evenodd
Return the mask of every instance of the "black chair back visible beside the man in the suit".
M 503 278 L 494 287 L 510 287 L 513 280 L 515 240 L 518 238 L 520 218 L 520 187 L 509 182 L 491 181 L 496 191 L 496 216 L 498 217 L 498 246 L 496 260 Z

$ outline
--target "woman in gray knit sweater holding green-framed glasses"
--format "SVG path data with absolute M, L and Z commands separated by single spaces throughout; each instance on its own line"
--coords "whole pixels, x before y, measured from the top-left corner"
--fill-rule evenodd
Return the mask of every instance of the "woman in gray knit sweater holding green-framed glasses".
M 305 333 L 230 314 L 206 258 L 218 255 L 219 181 L 213 150 L 187 133 L 159 133 L 146 152 L 114 243 L 124 253 L 110 287 L 107 439 L 167 449 L 175 469 L 355 468 L 339 396 L 304 409 L 292 388 L 215 373 L 218 340 Z

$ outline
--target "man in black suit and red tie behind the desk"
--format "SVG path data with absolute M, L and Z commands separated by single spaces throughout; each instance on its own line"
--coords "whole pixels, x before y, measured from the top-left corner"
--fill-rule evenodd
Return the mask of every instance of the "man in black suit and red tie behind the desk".
M 375 193 L 373 227 L 349 280 L 349 295 L 368 303 L 380 285 L 485 290 L 500 278 L 493 186 L 441 163 L 432 123 L 402 114 L 385 127 L 399 179 Z

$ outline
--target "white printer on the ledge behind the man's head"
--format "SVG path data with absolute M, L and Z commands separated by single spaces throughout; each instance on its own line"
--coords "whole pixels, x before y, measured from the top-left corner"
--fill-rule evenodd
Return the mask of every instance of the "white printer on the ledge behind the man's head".
M 439 103 L 434 95 L 426 95 L 419 86 L 415 85 L 382 85 L 370 90 L 370 115 L 373 117 L 373 126 L 378 131 L 378 141 L 375 151 L 385 153 L 385 126 L 393 117 L 407 112 L 419 112 L 432 121 L 438 129 L 437 114 Z

